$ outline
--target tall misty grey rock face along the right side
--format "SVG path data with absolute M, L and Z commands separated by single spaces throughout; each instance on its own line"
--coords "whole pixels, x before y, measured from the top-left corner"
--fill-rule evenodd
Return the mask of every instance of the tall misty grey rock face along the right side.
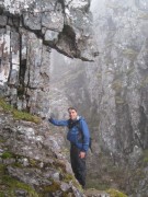
M 123 164 L 123 174 L 129 181 L 122 182 L 121 187 L 128 195 L 145 197 L 148 195 L 147 1 L 93 3 L 95 32 L 102 36 L 95 35 L 101 56 L 96 69 L 89 69 L 96 76 L 89 86 L 98 108 L 99 143 L 111 155 L 109 163 L 112 160 L 115 165 Z M 101 88 L 96 94 L 98 86 Z

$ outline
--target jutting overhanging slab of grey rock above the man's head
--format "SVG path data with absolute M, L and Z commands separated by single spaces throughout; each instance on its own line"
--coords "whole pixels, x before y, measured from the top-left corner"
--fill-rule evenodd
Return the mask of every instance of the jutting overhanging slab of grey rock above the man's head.
M 44 44 L 71 58 L 93 60 L 96 48 L 89 5 L 90 0 L 3 0 L 0 25 L 5 26 L 8 20 L 18 18 L 20 22 L 14 24 L 12 20 L 12 25 L 34 32 Z M 55 32 L 58 39 L 46 36 L 48 31 Z

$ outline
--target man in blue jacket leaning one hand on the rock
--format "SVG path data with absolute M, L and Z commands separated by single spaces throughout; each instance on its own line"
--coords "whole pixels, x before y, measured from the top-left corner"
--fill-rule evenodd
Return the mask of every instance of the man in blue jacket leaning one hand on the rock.
M 67 139 L 70 141 L 70 162 L 76 178 L 84 188 L 86 186 L 86 157 L 90 143 L 90 132 L 83 117 L 78 116 L 77 109 L 68 108 L 69 119 L 57 120 L 49 118 L 56 126 L 67 126 Z

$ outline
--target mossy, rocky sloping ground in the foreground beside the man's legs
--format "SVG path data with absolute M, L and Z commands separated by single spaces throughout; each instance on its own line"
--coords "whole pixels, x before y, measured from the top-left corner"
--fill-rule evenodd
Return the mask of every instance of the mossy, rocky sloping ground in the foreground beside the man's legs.
M 46 120 L 0 100 L 0 197 L 121 195 L 116 190 L 82 190 L 66 159 L 64 137 L 54 134 Z

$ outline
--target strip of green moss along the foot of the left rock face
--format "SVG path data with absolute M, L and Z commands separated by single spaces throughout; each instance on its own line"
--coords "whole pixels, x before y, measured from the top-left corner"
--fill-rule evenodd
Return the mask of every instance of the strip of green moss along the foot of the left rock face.
M 23 119 L 26 121 L 33 121 L 36 124 L 41 123 L 41 118 L 37 116 L 33 116 L 30 113 L 22 112 L 22 111 L 16 111 L 14 107 L 12 107 L 10 104 L 8 104 L 4 100 L 0 99 L 0 106 L 3 108 L 5 112 L 12 113 L 14 119 Z

